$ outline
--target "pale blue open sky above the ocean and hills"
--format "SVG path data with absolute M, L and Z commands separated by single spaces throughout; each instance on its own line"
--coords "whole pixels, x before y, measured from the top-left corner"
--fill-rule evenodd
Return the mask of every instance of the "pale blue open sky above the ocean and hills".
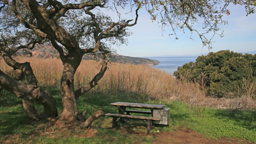
M 229 6 L 230 15 L 224 15 L 228 25 L 221 25 L 224 37 L 215 35 L 210 52 L 230 50 L 234 52 L 250 52 L 256 50 L 256 14 L 246 16 L 243 6 Z M 135 18 L 135 14 L 133 14 Z M 198 25 L 200 26 L 200 25 Z M 169 36 L 171 32 L 165 30 L 157 22 L 152 22 L 146 10 L 140 10 L 138 22 L 129 27 L 133 32 L 128 37 L 128 44 L 114 47 L 117 54 L 132 57 L 153 57 L 167 55 L 201 54 L 209 52 L 208 48 L 202 48 L 202 42 L 195 33 L 178 31 L 179 40 L 175 36 Z

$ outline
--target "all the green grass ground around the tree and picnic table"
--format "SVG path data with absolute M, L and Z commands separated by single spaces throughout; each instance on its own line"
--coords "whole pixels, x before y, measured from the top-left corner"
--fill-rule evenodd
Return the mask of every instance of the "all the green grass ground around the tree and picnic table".
M 56 98 L 58 112 L 62 111 L 60 92 L 56 89 L 48 89 Z M 159 104 L 159 101 L 145 100 L 143 94 L 134 92 L 120 92 L 115 96 L 101 92 L 89 92 L 81 96 L 78 101 L 80 112 L 88 110 L 88 114 L 101 108 L 104 113 L 117 113 L 112 102 L 141 102 Z M 150 133 L 156 131 L 175 131 L 180 128 L 192 129 L 204 134 L 206 138 L 218 139 L 243 138 L 256 143 L 256 111 L 239 110 L 215 110 L 212 108 L 193 107 L 181 102 L 163 102 L 170 108 L 169 126 L 159 125 Z M 42 110 L 42 106 L 36 106 Z M 90 129 L 74 128 L 70 130 L 58 130 L 56 125 L 48 125 L 48 121 L 32 122 L 28 120 L 22 108 L 22 102 L 13 94 L 2 90 L 0 92 L 0 143 L 9 140 L 14 143 L 67 143 L 67 144 L 133 144 L 135 142 L 150 144 L 156 141 L 153 135 L 138 136 L 134 132 L 146 132 L 146 123 L 142 120 L 129 120 L 127 124 L 113 130 L 111 117 L 102 116 L 93 122 Z M 54 134 L 47 134 L 44 130 L 52 130 Z M 88 136 L 88 134 L 92 134 Z M 107 139 L 107 141 L 106 141 Z

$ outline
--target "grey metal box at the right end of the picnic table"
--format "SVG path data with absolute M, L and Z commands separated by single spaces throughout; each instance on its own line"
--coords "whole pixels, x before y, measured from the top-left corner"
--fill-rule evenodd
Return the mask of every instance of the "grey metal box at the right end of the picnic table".
M 169 124 L 170 122 L 170 108 L 163 108 L 160 110 L 154 109 L 153 117 L 158 117 L 160 120 L 154 120 L 153 124 Z

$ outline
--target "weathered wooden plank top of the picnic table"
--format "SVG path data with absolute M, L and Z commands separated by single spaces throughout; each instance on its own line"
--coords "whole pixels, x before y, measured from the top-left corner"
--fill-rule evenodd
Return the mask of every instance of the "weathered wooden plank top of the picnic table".
M 139 104 L 139 103 L 132 103 L 132 102 L 114 102 L 114 103 L 111 103 L 111 105 L 134 107 L 134 108 L 153 108 L 153 109 L 162 109 L 165 106 L 161 104 Z

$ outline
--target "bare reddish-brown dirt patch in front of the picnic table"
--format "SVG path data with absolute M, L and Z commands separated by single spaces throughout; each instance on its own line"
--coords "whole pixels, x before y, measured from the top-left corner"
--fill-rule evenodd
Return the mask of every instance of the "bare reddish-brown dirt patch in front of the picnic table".
M 146 132 L 144 126 L 124 125 L 115 129 L 122 135 L 138 138 L 137 144 L 144 143 L 143 139 L 150 137 L 150 144 L 254 144 L 241 138 L 208 139 L 204 135 L 190 129 L 178 129 L 176 131 L 159 131 L 153 129 Z M 141 141 L 142 140 L 142 141 Z

